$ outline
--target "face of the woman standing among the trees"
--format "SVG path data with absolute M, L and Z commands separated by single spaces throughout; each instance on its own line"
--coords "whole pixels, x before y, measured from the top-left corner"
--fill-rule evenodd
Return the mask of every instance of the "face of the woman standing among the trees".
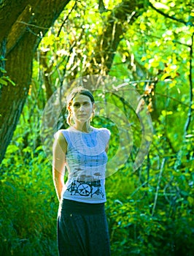
M 93 113 L 95 106 L 86 95 L 77 94 L 69 106 L 74 122 L 85 123 Z

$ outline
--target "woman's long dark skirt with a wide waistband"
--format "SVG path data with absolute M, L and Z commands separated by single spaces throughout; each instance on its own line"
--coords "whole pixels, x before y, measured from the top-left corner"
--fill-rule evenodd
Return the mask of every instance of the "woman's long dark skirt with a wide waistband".
M 63 199 L 58 211 L 59 256 L 109 256 L 104 203 Z

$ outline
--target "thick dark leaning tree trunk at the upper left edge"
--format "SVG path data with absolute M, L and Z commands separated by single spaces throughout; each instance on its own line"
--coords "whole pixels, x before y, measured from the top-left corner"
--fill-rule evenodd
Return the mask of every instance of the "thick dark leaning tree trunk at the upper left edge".
M 42 37 L 70 0 L 9 1 L 0 5 L 0 46 L 7 42 L 5 69 L 15 86 L 2 86 L 0 94 L 0 162 L 26 102 L 32 61 Z M 5 49 L 4 49 L 5 52 Z

